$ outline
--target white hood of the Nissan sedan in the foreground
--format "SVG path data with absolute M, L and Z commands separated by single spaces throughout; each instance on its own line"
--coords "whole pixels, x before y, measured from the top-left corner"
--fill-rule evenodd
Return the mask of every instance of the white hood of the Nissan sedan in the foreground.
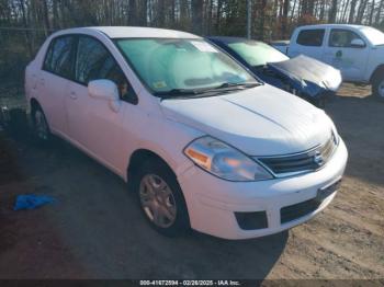
M 301 152 L 328 140 L 332 128 L 321 110 L 268 84 L 217 96 L 162 100 L 161 108 L 168 119 L 249 156 Z

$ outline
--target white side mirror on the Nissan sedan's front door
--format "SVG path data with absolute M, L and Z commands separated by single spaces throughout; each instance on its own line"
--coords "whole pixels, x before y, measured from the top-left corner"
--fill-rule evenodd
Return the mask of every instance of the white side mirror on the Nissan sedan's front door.
M 88 83 L 88 93 L 90 96 L 109 101 L 110 107 L 114 112 L 120 110 L 120 99 L 117 85 L 111 80 L 93 80 Z

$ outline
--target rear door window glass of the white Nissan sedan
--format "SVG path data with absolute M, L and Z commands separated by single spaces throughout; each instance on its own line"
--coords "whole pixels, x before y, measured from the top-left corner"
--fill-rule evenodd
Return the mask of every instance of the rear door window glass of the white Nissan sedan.
M 74 42 L 75 38 L 72 36 L 53 39 L 46 54 L 43 69 L 64 78 L 72 78 Z

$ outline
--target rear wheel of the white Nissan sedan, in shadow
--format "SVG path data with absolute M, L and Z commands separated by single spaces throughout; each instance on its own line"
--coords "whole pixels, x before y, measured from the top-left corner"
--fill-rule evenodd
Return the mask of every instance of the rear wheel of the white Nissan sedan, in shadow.
M 33 137 L 42 145 L 48 144 L 52 134 L 43 110 L 39 106 L 32 108 L 31 117 Z

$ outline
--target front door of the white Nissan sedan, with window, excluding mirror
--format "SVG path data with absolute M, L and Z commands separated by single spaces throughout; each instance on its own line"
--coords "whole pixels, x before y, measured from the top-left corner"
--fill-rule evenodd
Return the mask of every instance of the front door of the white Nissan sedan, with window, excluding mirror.
M 115 112 L 111 103 L 89 95 L 88 83 L 92 80 L 109 79 L 116 83 L 121 108 Z M 69 134 L 78 146 L 116 169 L 122 154 L 124 114 L 134 105 L 134 91 L 106 47 L 97 38 L 86 35 L 78 37 L 75 64 L 75 81 L 68 87 L 66 108 Z

